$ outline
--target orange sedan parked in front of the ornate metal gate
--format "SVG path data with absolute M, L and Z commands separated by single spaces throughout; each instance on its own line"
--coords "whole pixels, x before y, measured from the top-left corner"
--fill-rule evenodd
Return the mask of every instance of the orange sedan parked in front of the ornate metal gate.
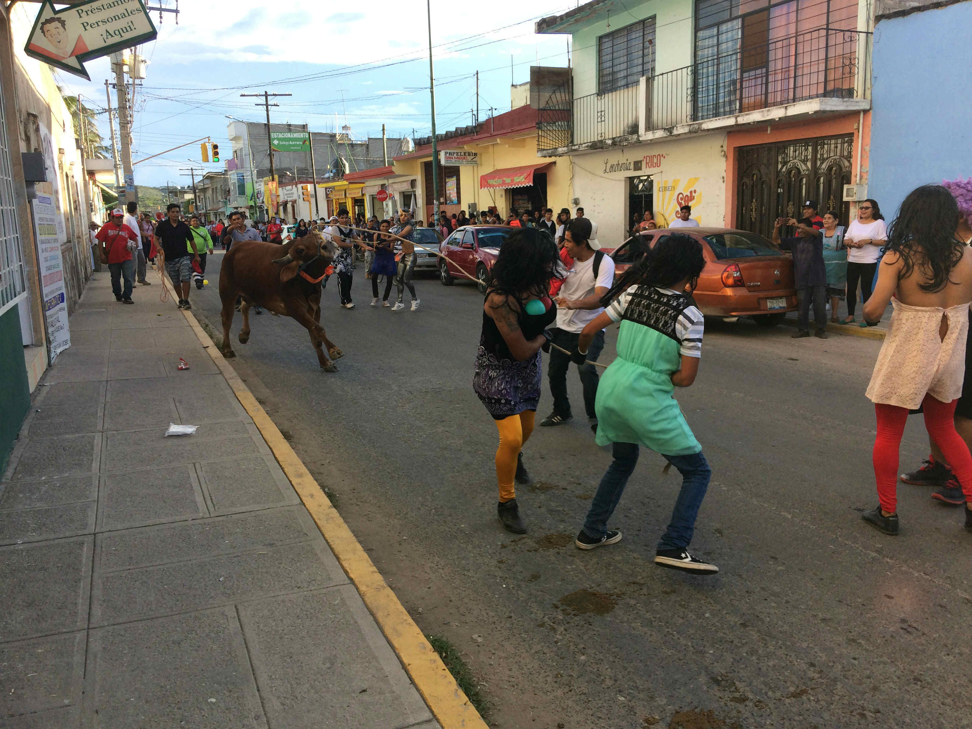
M 681 233 L 702 244 L 706 267 L 699 276 L 695 301 L 703 314 L 752 317 L 775 327 L 787 311 L 796 311 L 793 260 L 756 233 L 725 227 L 679 227 L 647 230 L 610 253 L 620 276 L 663 235 Z

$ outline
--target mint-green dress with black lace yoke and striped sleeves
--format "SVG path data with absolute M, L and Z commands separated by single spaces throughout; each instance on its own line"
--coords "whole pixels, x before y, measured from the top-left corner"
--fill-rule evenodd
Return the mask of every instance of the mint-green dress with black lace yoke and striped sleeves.
M 700 452 L 672 373 L 682 353 L 701 353 L 702 313 L 686 296 L 648 286 L 633 286 L 606 311 L 621 330 L 617 359 L 598 384 L 598 445 L 638 443 L 667 456 Z

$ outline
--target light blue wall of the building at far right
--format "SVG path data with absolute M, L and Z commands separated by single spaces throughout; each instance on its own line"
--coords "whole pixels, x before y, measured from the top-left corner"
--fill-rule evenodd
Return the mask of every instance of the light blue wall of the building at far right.
M 868 196 L 890 222 L 920 185 L 972 177 L 972 2 L 878 22 Z

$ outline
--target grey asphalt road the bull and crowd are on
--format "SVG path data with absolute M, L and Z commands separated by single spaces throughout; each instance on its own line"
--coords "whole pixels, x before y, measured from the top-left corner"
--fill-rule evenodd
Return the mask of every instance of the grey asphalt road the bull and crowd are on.
M 211 258 L 191 298 L 220 330 Z M 420 277 L 420 311 L 392 313 L 367 305 L 369 284 L 360 267 L 352 311 L 325 291 L 339 372 L 319 370 L 305 330 L 265 314 L 246 345 L 237 315 L 233 364 L 420 627 L 467 653 L 494 726 L 970 725 L 961 512 L 901 484 L 899 537 L 859 518 L 877 503 L 864 390 L 880 342 L 707 322 L 698 380 L 678 399 L 713 471 L 692 546 L 721 572 L 695 577 L 652 562 L 679 478 L 644 450 L 612 522 L 623 540 L 573 546 L 609 463 L 583 417 L 527 444 L 530 534 L 505 533 L 497 433 L 471 389 L 481 296 Z M 614 341 L 609 330 L 604 362 Z M 550 403 L 544 387 L 541 417 Z M 927 450 L 911 420 L 902 469 Z

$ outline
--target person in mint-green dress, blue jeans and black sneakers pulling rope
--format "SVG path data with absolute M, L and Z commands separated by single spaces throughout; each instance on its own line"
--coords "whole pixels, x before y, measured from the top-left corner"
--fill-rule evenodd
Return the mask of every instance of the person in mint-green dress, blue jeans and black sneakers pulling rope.
M 605 311 L 581 332 L 574 361 L 583 361 L 595 333 L 620 322 L 617 358 L 601 377 L 595 409 L 598 445 L 611 444 L 613 461 L 601 479 L 574 543 L 593 549 L 621 540 L 608 519 L 638 465 L 639 446 L 662 454 L 681 473 L 681 491 L 668 530 L 658 542 L 655 564 L 682 572 L 714 574 L 715 565 L 692 556 L 695 519 L 712 470 L 673 397 L 689 387 L 702 357 L 702 312 L 692 304 L 706 264 L 702 245 L 683 234 L 663 236 L 641 262 L 629 268 L 603 298 Z

